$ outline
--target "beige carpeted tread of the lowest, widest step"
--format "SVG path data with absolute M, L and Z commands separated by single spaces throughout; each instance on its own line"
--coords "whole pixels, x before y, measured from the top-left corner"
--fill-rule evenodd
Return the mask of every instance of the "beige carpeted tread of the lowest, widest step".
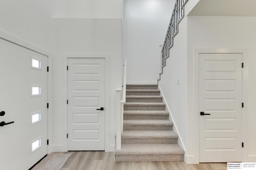
M 178 144 L 122 144 L 114 154 L 184 154 L 184 150 Z

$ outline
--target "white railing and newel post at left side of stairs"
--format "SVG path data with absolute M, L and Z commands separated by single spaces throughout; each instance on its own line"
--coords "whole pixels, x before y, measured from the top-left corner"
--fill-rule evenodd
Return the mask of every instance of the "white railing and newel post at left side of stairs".
M 121 149 L 123 132 L 124 103 L 126 102 L 126 60 L 123 63 L 122 89 L 116 90 L 116 149 Z

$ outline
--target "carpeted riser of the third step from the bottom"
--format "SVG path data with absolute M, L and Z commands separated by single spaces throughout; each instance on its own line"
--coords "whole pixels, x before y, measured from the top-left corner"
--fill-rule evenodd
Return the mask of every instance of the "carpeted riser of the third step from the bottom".
M 124 131 L 172 131 L 172 125 L 125 125 Z

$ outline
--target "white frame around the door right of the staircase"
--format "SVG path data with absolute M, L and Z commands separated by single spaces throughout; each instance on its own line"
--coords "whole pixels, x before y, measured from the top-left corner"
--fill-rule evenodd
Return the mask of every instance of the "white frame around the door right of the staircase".
M 242 70 L 242 101 L 248 103 L 248 55 L 245 48 L 228 48 L 228 49 L 209 49 L 209 48 L 195 48 L 194 49 L 194 163 L 199 163 L 199 54 L 200 53 L 241 53 L 242 62 L 245 67 Z M 248 108 L 242 109 L 242 140 L 246 141 L 246 122 L 248 117 Z M 242 151 L 242 160 L 244 161 L 246 149 Z

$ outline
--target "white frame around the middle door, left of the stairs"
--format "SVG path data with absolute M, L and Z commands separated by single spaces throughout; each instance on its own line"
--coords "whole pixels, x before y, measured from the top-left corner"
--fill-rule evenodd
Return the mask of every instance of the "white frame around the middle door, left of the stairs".
M 109 64 L 109 54 L 102 53 L 64 53 L 63 54 L 63 131 L 62 131 L 62 141 L 63 141 L 63 151 L 68 151 L 68 139 L 66 134 L 68 133 L 68 72 L 67 72 L 67 64 L 68 58 L 100 58 L 105 59 L 105 152 L 110 151 L 110 143 L 109 143 L 109 135 L 110 135 L 110 125 L 109 125 L 109 108 L 110 108 L 110 64 Z

